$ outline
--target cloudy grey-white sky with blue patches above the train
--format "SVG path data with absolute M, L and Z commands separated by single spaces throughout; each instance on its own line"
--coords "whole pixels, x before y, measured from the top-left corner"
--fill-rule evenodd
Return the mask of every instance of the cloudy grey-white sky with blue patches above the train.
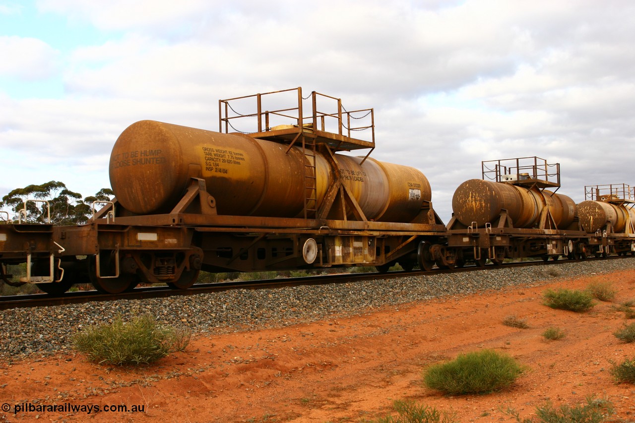
M 220 98 L 302 86 L 375 109 L 373 157 L 422 170 L 445 222 L 481 161 L 635 184 L 635 3 L 0 0 L 0 198 L 109 187 L 140 119 L 217 130 Z

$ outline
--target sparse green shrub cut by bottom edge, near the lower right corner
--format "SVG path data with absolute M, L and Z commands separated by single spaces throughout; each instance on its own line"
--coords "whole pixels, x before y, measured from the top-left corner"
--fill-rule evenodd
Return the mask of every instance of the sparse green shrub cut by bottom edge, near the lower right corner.
M 587 397 L 585 405 L 563 404 L 556 408 L 551 402 L 547 402 L 545 405 L 537 406 L 535 417 L 530 419 L 521 419 L 518 412 L 511 408 L 507 409 L 507 414 L 512 415 L 521 423 L 600 423 L 613 414 L 613 405 L 608 400 Z

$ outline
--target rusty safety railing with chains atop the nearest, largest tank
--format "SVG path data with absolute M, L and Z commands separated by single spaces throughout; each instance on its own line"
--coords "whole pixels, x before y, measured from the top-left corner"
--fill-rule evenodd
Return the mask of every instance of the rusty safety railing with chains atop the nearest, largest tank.
M 311 105 L 305 107 L 304 102 L 309 99 Z M 325 106 L 331 111 L 323 111 Z M 307 110 L 310 114 L 305 116 Z M 220 132 L 260 133 L 285 124 L 375 142 L 373 109 L 347 111 L 340 98 L 316 91 L 302 97 L 302 87 L 218 100 Z M 358 135 L 366 135 L 364 131 L 368 131 L 366 139 Z

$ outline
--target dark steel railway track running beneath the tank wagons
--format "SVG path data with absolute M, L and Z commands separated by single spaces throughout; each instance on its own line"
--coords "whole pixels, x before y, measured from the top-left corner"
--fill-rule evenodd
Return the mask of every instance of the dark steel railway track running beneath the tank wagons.
M 621 257 L 603 257 L 603 258 L 587 258 L 587 260 L 613 260 Z M 549 262 L 530 261 L 507 263 L 504 265 L 488 264 L 485 267 L 465 266 L 460 269 L 442 270 L 434 269 L 433 271 L 391 271 L 386 273 L 370 272 L 370 273 L 345 273 L 330 274 L 321 276 L 307 276 L 302 278 L 279 278 L 279 279 L 263 279 L 253 281 L 228 281 L 218 283 L 200 283 L 192 286 L 187 290 L 173 290 L 168 286 L 144 286 L 138 287 L 131 292 L 120 294 L 104 294 L 95 290 L 67 292 L 59 297 L 51 295 L 30 294 L 30 295 L 6 295 L 0 297 L 0 310 L 27 308 L 27 307 L 46 307 L 51 305 L 63 304 L 81 304 L 86 302 L 102 302 L 114 300 L 140 300 L 150 298 L 165 298 L 171 296 L 197 295 L 203 293 L 214 293 L 234 289 L 265 289 L 265 288 L 281 288 L 283 286 L 300 286 L 300 285 L 326 285 L 331 283 L 350 283 L 354 281 L 365 281 L 368 279 L 395 279 L 404 278 L 406 276 L 424 276 L 439 273 L 453 272 L 472 272 L 472 271 L 497 271 L 498 269 L 510 269 L 512 267 L 527 267 L 537 265 L 558 265 L 565 263 L 582 262 L 585 260 L 550 260 Z

